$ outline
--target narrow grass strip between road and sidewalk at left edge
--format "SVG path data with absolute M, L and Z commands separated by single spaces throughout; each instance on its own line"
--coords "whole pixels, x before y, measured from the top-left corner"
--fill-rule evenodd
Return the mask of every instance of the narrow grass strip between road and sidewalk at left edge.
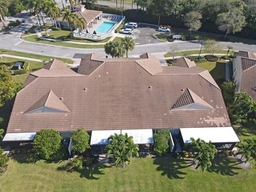
M 33 58 L 33 59 L 41 59 L 41 60 L 44 60 L 44 61 L 50 61 L 51 59 L 59 59 L 61 61 L 67 62 L 69 64 L 74 63 L 73 60 L 66 59 L 66 58 L 49 57 L 49 56 L 46 56 L 46 55 L 23 53 L 23 52 L 11 51 L 11 50 L 3 50 L 3 49 L 0 49 L 0 54 L 10 54 L 10 55 L 16 55 L 16 56 L 20 56 L 20 57 L 27 57 L 27 58 Z

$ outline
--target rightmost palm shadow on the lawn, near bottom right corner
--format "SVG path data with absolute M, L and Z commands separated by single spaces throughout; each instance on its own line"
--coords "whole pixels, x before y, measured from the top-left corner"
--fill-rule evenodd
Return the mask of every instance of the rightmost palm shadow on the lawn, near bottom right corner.
M 238 170 L 241 170 L 240 167 L 236 166 L 239 163 L 239 159 L 233 157 L 215 158 L 211 168 L 207 171 L 221 175 L 234 176 L 238 174 Z

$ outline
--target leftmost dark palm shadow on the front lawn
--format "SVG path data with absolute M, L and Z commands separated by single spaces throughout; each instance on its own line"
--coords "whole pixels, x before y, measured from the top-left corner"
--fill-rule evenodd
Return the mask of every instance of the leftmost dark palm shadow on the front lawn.
M 84 169 L 82 169 L 82 170 L 78 170 L 78 169 L 68 170 L 68 166 L 66 164 L 66 165 L 58 167 L 57 170 L 67 171 L 67 172 L 78 172 L 78 173 L 80 173 L 81 178 L 86 178 L 86 179 L 91 179 L 91 180 L 98 180 L 99 177 L 97 177 L 97 175 L 105 174 L 103 172 L 103 169 L 106 169 L 108 167 L 111 167 L 111 166 L 108 166 L 106 164 L 96 163 L 92 166 L 84 167 Z

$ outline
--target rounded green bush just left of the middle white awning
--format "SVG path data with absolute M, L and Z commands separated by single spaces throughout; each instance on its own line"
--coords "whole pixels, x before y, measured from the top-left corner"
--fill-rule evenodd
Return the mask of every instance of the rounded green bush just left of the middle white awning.
M 76 153 L 83 153 L 86 149 L 90 149 L 89 145 L 90 135 L 83 127 L 79 128 L 71 134 L 72 150 Z

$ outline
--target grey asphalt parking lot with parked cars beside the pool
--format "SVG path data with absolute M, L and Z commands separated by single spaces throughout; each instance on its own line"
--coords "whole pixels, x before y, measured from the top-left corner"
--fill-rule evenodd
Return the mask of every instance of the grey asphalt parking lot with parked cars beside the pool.
M 138 23 L 138 27 L 133 30 L 132 35 L 124 35 L 124 36 L 132 36 L 136 44 L 148 44 L 148 43 L 161 43 L 155 37 L 154 34 L 157 33 L 157 26 L 147 25 L 144 23 Z M 158 34 L 167 34 L 165 32 L 159 32 Z

